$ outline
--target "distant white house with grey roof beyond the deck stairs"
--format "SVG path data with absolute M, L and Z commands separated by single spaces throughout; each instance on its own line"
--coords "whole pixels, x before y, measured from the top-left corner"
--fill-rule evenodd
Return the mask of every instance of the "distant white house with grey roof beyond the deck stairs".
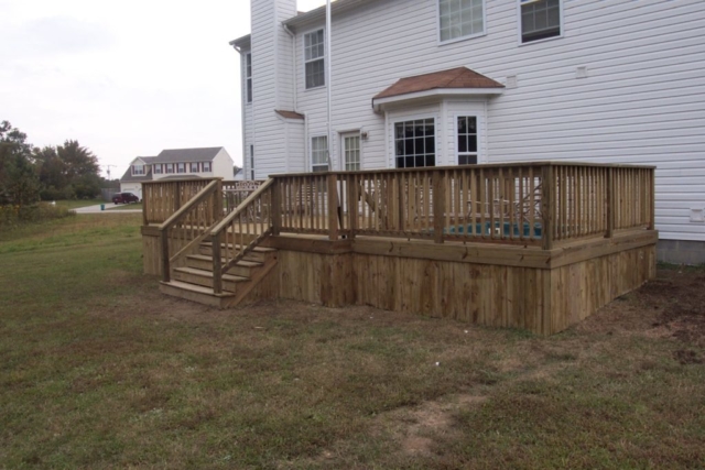
M 142 198 L 142 183 L 182 177 L 232 181 L 232 159 L 221 146 L 163 150 L 156 156 L 138 156 L 120 178 L 120 192 Z

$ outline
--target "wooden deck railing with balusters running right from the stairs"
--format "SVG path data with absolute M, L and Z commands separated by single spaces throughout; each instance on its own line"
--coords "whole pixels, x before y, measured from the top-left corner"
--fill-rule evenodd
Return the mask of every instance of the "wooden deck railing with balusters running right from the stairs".
M 519 163 L 273 176 L 275 231 L 541 245 L 653 229 L 650 166 Z

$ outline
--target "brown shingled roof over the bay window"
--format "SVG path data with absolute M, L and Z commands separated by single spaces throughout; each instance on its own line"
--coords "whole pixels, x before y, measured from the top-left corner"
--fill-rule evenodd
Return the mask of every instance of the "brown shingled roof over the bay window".
M 434 89 L 458 88 L 505 88 L 499 81 L 495 81 L 485 75 L 470 70 L 467 67 L 457 67 L 449 70 L 434 72 L 432 74 L 416 75 L 402 78 L 375 99 L 408 95 Z

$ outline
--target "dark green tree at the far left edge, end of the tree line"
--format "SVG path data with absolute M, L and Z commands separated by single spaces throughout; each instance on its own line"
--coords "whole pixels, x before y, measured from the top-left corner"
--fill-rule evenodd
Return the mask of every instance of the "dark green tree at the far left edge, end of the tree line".
M 34 203 L 39 187 L 39 174 L 26 134 L 13 129 L 8 121 L 0 122 L 0 205 Z

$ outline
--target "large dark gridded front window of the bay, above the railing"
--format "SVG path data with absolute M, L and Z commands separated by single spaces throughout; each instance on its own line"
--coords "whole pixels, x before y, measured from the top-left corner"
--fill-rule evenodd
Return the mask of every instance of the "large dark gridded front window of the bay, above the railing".
M 394 155 L 398 168 L 436 166 L 435 120 L 430 118 L 397 122 Z

